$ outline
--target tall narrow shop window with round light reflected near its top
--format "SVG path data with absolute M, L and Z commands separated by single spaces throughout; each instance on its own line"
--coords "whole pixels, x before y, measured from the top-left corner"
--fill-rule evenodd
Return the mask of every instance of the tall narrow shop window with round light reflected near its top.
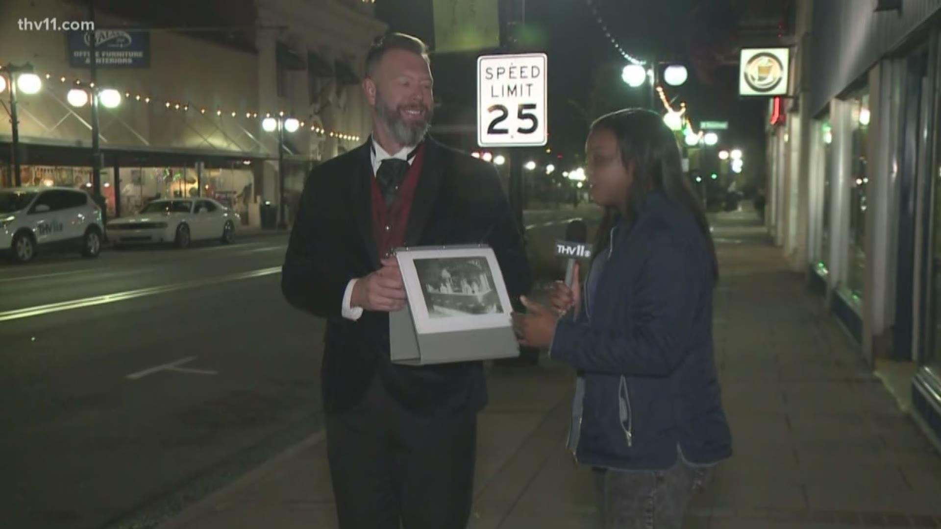
M 869 187 L 869 94 L 853 98 L 852 164 L 850 173 L 850 254 L 846 290 L 857 304 L 866 282 L 866 189 Z

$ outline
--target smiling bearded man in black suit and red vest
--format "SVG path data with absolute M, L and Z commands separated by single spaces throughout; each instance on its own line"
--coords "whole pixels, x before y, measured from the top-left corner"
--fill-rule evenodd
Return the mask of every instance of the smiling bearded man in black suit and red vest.
M 406 292 L 394 248 L 484 243 L 514 299 L 531 278 L 520 227 L 486 162 L 427 136 L 434 98 L 421 40 L 390 34 L 366 60 L 373 136 L 313 169 L 281 288 L 327 318 L 327 457 L 343 529 L 461 529 L 470 517 L 482 362 L 390 361 Z

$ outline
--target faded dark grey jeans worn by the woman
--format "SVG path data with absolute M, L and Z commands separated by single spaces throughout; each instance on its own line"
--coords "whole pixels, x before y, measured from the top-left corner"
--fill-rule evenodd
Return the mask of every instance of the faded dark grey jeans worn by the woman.
M 687 505 L 714 470 L 714 465 L 693 466 L 681 455 L 663 471 L 595 469 L 605 529 L 679 529 Z

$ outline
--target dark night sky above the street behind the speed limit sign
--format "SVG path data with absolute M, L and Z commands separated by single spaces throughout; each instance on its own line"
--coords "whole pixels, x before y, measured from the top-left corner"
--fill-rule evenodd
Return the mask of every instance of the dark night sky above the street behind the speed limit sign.
M 688 66 L 690 80 L 681 88 L 666 87 L 667 96 L 676 98 L 676 108 L 680 101 L 687 103 L 696 128 L 699 120 L 727 120 L 730 130 L 722 135 L 722 146 L 742 147 L 759 154 L 767 100 L 740 100 L 738 65 L 710 61 L 720 53 L 727 56 L 729 50 L 734 55 L 734 0 L 594 3 L 614 38 L 630 55 L 647 59 L 655 54 L 661 61 Z M 377 0 L 376 14 L 390 24 L 392 31 L 413 34 L 434 49 L 432 0 Z M 630 88 L 621 81 L 620 72 L 627 62 L 604 36 L 586 0 L 529 0 L 526 23 L 545 36 L 542 50 L 550 61 L 553 149 L 566 153 L 581 150 L 586 119 L 648 101 L 648 91 Z M 433 56 L 432 61 L 441 99 L 474 112 L 473 57 Z

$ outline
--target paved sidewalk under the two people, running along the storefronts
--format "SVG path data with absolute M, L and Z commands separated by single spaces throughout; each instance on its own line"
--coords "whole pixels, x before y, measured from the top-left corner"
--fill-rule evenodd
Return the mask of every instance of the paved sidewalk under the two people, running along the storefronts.
M 751 212 L 720 214 L 715 342 L 735 456 L 685 527 L 941 527 L 941 457 L 865 367 Z M 471 529 L 597 527 L 590 473 L 563 447 L 569 370 L 493 369 Z M 163 529 L 335 528 L 320 437 Z

